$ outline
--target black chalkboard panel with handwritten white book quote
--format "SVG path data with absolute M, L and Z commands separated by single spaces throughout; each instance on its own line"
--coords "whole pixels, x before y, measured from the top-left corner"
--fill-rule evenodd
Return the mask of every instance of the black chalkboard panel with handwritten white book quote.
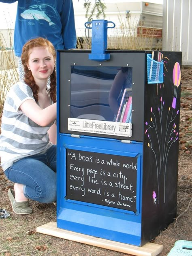
M 66 199 L 136 212 L 137 157 L 66 149 Z

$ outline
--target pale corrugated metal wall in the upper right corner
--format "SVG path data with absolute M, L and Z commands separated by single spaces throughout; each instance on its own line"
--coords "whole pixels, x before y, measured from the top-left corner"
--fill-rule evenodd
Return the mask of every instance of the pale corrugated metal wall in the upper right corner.
M 164 0 L 164 51 L 182 51 L 182 65 L 192 65 L 192 0 Z

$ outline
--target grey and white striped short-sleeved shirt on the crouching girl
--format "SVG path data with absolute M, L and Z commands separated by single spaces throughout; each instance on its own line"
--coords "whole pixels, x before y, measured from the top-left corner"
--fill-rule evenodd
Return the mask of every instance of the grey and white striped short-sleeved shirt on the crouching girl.
M 20 81 L 13 85 L 4 102 L 0 134 L 0 157 L 4 171 L 17 160 L 43 154 L 52 143 L 49 141 L 49 124 L 39 126 L 28 118 L 20 105 L 28 99 L 35 100 L 31 88 Z

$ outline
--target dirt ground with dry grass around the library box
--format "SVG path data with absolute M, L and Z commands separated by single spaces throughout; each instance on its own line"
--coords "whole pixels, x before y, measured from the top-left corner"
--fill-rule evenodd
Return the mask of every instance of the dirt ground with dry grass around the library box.
M 179 136 L 179 173 L 177 190 L 177 218 L 151 241 L 164 246 L 159 256 L 166 256 L 177 240 L 192 240 L 192 67 L 182 68 L 181 111 Z M 11 208 L 7 191 L 13 183 L 0 169 L 0 208 L 11 213 L 0 219 L 0 255 L 6 256 L 128 256 L 128 254 L 85 245 L 36 233 L 36 228 L 51 221 L 56 222 L 54 204 L 31 201 L 34 210 L 30 215 L 17 215 Z

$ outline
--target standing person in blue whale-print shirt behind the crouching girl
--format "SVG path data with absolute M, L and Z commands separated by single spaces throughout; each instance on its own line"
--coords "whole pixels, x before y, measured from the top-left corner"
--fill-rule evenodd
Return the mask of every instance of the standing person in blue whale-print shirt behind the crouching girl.
M 38 36 L 47 38 L 55 49 L 76 48 L 77 38 L 72 0 L 0 0 L 17 4 L 14 50 L 18 57 L 19 80 L 23 79 L 23 45 Z

